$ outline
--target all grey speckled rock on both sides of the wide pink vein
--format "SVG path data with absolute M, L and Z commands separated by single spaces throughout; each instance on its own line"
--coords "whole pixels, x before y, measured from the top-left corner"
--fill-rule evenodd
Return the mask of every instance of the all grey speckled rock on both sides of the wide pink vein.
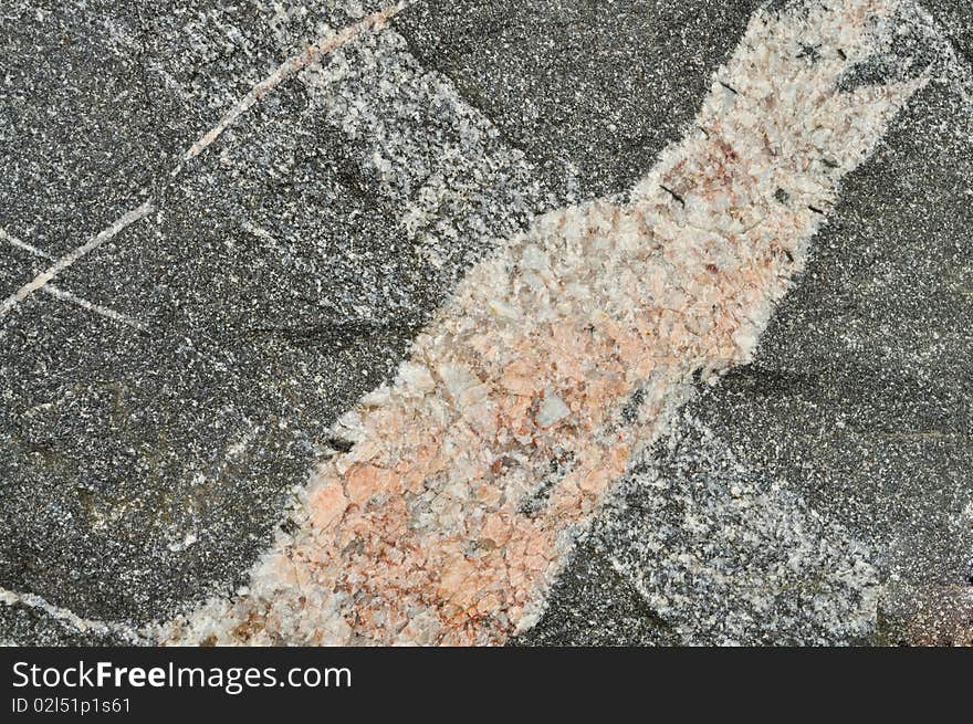
M 761 4 L 419 1 L 172 176 L 383 3 L 4 2 L 0 230 L 21 243 L 0 238 L 0 298 L 155 211 L 54 282 L 128 322 L 51 294 L 0 319 L 0 588 L 122 628 L 0 605 L 0 641 L 126 640 L 244 583 L 347 444 L 332 423 L 465 270 L 644 176 Z M 914 8 L 857 82 L 931 64 L 929 85 L 846 179 L 753 364 L 635 461 L 514 643 L 969 642 L 973 11 Z

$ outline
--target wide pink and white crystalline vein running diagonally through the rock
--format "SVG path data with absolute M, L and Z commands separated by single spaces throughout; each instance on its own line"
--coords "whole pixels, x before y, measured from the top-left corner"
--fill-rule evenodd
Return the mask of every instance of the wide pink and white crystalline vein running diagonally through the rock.
M 711 137 L 688 133 L 620 199 L 499 240 L 396 377 L 332 428 L 355 444 L 296 494 L 304 522 L 245 589 L 161 640 L 471 646 L 536 623 L 574 542 L 697 374 L 752 359 L 824 223 L 808 207 L 831 207 L 929 81 L 839 85 L 889 46 L 908 1 L 758 10 L 702 99 L 695 126 Z M 808 64 L 795 39 L 820 57 Z M 552 463 L 563 474 L 525 511 Z

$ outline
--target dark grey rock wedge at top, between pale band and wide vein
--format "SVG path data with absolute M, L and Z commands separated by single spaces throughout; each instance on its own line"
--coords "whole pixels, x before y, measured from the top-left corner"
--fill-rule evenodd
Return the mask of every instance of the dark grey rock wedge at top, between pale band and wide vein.
M 432 0 L 396 23 L 552 187 L 626 191 L 692 120 L 758 0 Z

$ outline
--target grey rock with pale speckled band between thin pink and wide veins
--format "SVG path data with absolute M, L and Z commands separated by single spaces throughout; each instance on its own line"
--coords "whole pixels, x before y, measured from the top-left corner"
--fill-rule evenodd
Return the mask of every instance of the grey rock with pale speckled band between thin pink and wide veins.
M 4 587 L 143 622 L 242 583 L 325 428 L 550 203 L 401 44 L 289 81 L 57 279 L 144 330 L 42 294 L 4 319 Z M 356 98 L 352 127 L 335 99 Z M 435 217 L 405 228 L 427 191 Z

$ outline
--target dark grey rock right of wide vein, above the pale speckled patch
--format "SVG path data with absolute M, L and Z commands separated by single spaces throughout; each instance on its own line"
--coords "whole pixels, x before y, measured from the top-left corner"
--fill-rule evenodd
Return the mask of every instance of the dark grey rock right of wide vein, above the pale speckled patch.
M 882 610 L 937 641 L 973 592 L 971 135 L 950 81 L 910 105 L 712 407 L 751 464 L 876 546 Z

